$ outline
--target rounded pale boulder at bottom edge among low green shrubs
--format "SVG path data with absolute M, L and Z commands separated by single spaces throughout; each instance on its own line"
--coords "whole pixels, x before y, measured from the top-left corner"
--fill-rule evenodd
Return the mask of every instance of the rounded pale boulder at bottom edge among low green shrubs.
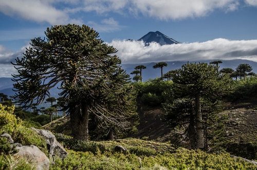
M 11 144 L 16 145 L 19 150 L 15 156 L 25 158 L 28 162 L 32 163 L 36 170 L 49 169 L 50 161 L 40 149 L 34 145 L 23 146 L 20 143 Z

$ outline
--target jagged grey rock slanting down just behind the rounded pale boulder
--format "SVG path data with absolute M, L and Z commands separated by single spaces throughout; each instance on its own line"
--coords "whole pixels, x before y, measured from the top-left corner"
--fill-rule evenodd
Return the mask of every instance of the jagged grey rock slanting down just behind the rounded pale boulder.
M 65 158 L 68 153 L 65 148 L 56 140 L 56 137 L 47 130 L 39 130 L 35 128 L 31 128 L 36 131 L 39 135 L 41 135 L 44 139 L 46 139 L 47 148 L 49 150 L 49 156 L 52 158 L 53 156 L 59 156 L 60 158 Z

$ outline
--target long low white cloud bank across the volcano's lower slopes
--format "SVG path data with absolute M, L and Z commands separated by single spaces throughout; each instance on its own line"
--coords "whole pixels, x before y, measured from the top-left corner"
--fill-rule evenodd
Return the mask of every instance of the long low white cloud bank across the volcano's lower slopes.
M 160 46 L 152 42 L 144 46 L 142 41 L 113 40 L 122 63 L 159 61 L 197 61 L 209 59 L 248 59 L 257 61 L 257 40 L 228 40 L 218 38 L 206 42 Z

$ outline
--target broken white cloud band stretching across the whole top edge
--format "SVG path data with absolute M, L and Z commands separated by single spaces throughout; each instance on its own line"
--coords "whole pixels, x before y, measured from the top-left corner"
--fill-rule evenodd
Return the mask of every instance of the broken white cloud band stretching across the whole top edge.
M 206 16 L 214 10 L 234 11 L 244 6 L 257 7 L 256 0 L 8 0 L 0 3 L 5 15 L 51 25 L 82 24 L 81 18 L 72 18 L 78 12 L 96 12 L 100 15 L 119 13 L 143 15 L 161 20 Z M 80 14 L 81 16 L 81 14 Z M 106 20 L 107 21 L 107 20 Z M 117 22 L 109 22 L 117 24 Z M 105 22 L 105 21 L 104 21 Z

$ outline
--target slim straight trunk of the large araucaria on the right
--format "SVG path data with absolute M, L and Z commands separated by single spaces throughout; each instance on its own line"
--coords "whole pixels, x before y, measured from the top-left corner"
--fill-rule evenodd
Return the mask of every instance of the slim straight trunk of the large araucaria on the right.
M 201 118 L 201 95 L 196 94 L 195 96 L 195 114 L 196 114 L 196 148 L 201 150 L 204 149 L 204 130 L 203 120 Z

